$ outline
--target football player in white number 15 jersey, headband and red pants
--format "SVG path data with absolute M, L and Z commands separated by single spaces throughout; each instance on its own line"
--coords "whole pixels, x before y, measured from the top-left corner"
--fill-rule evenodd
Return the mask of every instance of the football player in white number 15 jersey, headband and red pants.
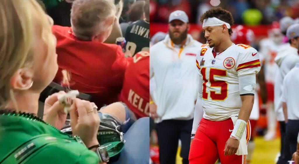
M 211 8 L 200 21 L 207 44 L 196 57 L 200 82 L 189 162 L 215 163 L 220 158 L 222 164 L 245 163 L 259 54 L 231 41 L 234 19 L 229 11 Z

